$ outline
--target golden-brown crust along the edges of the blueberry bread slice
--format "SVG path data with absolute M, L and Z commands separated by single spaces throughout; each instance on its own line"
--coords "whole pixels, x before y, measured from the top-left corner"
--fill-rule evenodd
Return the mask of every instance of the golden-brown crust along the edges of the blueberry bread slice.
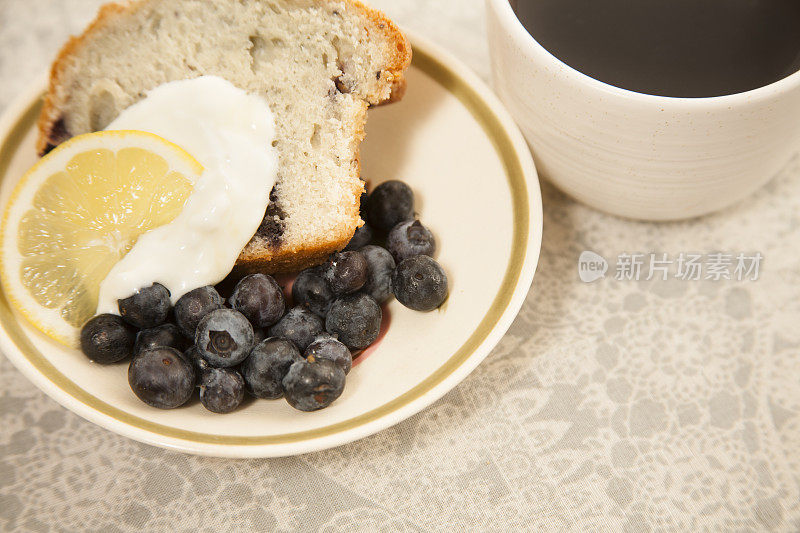
M 103 5 L 97 13 L 96 18 L 84 32 L 79 36 L 71 37 L 62 47 L 50 69 L 50 82 L 47 94 L 44 99 L 41 114 L 38 120 L 39 137 L 37 139 L 37 150 L 40 155 L 47 153 L 54 146 L 65 141 L 69 137 L 68 132 L 60 131 L 59 127 L 60 106 L 66 101 L 67 88 L 64 87 L 64 73 L 71 65 L 73 58 L 81 47 L 86 46 L 92 37 L 103 29 L 113 26 L 121 18 L 124 18 L 137 9 L 150 2 L 159 0 L 128 0 L 124 3 L 108 3 Z M 317 0 L 320 4 L 332 4 L 337 0 Z M 411 45 L 405 35 L 397 25 L 387 18 L 383 13 L 365 6 L 359 0 L 341 0 L 347 10 L 360 12 L 363 18 L 372 25 L 365 26 L 367 31 L 382 31 L 388 42 L 392 43 L 389 65 L 381 71 L 381 78 L 390 83 L 391 94 L 383 101 L 371 102 L 373 105 L 390 103 L 400 100 L 405 93 L 404 73 L 411 64 Z M 366 107 L 366 106 L 365 106 Z M 359 139 L 363 139 L 363 127 L 356 132 Z M 360 174 L 360 158 L 358 154 L 353 162 L 356 175 Z M 363 186 L 362 186 L 363 190 Z M 360 191 L 355 191 L 357 195 Z M 358 197 L 358 196 L 357 196 Z M 249 251 L 250 245 L 240 255 L 236 262 L 235 271 L 237 272 L 268 272 L 268 273 L 287 273 L 296 272 L 303 268 L 322 263 L 333 252 L 344 248 L 353 236 L 356 228 L 362 224 L 358 205 L 354 205 L 348 213 L 350 223 L 347 228 L 342 228 L 338 235 L 331 235 L 330 238 L 322 243 L 309 243 L 302 249 L 290 250 L 285 246 L 278 246 L 274 250 L 259 253 Z

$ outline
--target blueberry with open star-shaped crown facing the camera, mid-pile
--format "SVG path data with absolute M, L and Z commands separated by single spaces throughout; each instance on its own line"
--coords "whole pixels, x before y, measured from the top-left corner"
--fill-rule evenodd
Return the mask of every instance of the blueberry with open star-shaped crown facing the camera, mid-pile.
M 211 311 L 197 325 L 197 353 L 213 367 L 235 366 L 253 349 L 253 326 L 239 311 Z

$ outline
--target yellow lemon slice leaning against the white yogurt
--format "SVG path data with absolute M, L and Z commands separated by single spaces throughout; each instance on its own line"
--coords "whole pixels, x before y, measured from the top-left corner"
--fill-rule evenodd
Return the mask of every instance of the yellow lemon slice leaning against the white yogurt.
M 22 177 L 3 213 L 0 277 L 12 305 L 76 345 L 106 274 L 139 235 L 181 212 L 202 172 L 182 148 L 142 131 L 61 144 Z

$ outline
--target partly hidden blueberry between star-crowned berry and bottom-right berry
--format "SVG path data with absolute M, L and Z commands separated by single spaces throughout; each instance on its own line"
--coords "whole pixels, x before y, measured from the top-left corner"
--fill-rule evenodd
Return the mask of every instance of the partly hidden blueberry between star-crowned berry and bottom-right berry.
M 242 364 L 247 392 L 267 400 L 283 397 L 283 378 L 293 363 L 302 360 L 293 342 L 277 337 L 266 339 L 253 348 Z

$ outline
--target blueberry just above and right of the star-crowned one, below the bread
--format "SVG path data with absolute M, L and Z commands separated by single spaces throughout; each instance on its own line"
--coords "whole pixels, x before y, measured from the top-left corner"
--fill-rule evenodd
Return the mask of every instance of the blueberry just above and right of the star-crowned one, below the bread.
M 272 276 L 250 274 L 236 284 L 228 300 L 255 327 L 264 328 L 281 319 L 286 311 L 283 290 Z

